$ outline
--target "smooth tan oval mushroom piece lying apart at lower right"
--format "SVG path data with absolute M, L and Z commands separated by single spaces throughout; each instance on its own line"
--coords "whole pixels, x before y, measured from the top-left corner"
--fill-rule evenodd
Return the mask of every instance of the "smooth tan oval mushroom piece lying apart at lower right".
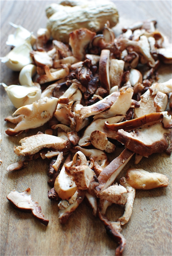
M 144 169 L 128 169 L 125 177 L 127 183 L 135 189 L 167 187 L 169 184 L 166 175 L 155 172 L 150 173 Z

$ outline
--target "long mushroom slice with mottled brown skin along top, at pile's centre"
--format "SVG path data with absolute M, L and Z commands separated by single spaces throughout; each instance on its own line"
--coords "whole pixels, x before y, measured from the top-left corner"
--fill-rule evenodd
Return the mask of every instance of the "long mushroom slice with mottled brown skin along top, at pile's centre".
M 80 118 L 86 118 L 92 115 L 97 115 L 98 113 L 109 109 L 113 105 L 113 103 L 117 100 L 119 95 L 120 95 L 120 92 L 116 91 L 90 106 L 84 106 L 80 110 Z

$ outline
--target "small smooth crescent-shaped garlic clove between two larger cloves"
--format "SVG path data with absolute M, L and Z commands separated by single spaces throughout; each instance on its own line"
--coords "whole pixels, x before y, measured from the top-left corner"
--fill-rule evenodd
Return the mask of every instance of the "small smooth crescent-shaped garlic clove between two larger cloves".
M 33 64 L 28 64 L 22 68 L 19 73 L 19 83 L 21 85 L 35 86 L 32 81 L 32 77 L 36 74 L 36 66 Z

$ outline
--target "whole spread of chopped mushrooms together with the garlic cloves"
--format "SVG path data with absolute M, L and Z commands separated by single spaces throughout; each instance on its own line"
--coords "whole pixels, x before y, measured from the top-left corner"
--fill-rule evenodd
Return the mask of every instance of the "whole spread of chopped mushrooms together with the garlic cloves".
M 16 34 L 7 44 L 14 48 L 1 61 L 20 71 L 20 85 L 1 83 L 17 109 L 5 119 L 16 124 L 6 134 L 45 123 L 48 128 L 14 146 L 25 159 L 7 170 L 48 158 L 48 198 L 57 201 L 60 222 L 87 199 L 117 241 L 116 255 L 122 255 L 126 241 L 120 232 L 132 214 L 136 190 L 168 186 L 165 175 L 136 168 L 128 169 L 119 184 L 115 179 L 132 157 L 138 164 L 154 153 L 171 154 L 172 79 L 159 83 L 157 72 L 160 63 L 171 63 L 171 47 L 153 19 L 125 27 L 117 37 L 109 21 L 101 33 L 79 28 L 69 34 L 68 44 L 51 38 L 47 28 L 35 37 L 11 25 Z M 109 162 L 107 155 L 118 146 L 122 153 Z M 7 198 L 48 225 L 29 188 L 13 190 Z M 116 221 L 106 217 L 112 204 L 125 205 Z

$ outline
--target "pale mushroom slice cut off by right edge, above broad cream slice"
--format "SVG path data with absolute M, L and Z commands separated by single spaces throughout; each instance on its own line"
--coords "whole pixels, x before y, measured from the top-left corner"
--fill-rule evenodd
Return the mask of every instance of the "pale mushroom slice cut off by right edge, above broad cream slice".
M 158 91 L 166 94 L 170 93 L 172 91 L 172 79 L 163 83 L 155 82 L 150 86 L 149 90 L 152 95 L 156 95 Z

